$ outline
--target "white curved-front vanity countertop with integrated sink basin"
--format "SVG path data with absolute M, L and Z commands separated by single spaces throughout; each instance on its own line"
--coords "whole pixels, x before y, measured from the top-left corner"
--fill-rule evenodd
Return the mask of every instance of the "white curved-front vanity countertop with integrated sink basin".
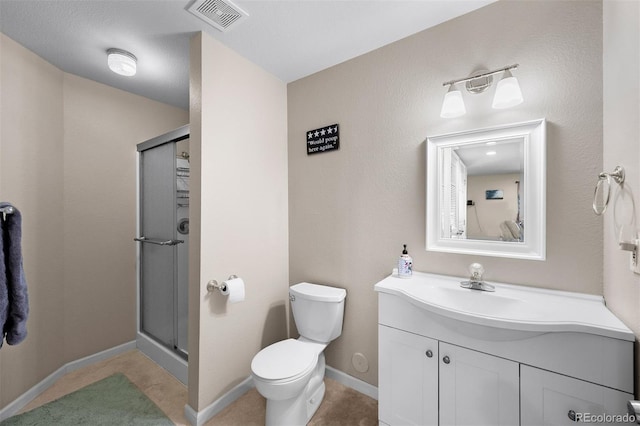
M 414 272 L 390 275 L 375 290 L 404 298 L 449 318 L 489 327 L 537 332 L 580 332 L 634 341 L 635 336 L 600 296 L 489 282 L 495 292 L 460 287 L 465 278 Z

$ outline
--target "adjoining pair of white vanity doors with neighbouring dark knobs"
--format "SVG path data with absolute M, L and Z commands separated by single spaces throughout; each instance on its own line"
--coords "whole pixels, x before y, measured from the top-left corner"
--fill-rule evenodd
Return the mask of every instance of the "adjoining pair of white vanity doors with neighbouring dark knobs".
M 518 363 L 384 325 L 378 338 L 381 423 L 519 423 Z

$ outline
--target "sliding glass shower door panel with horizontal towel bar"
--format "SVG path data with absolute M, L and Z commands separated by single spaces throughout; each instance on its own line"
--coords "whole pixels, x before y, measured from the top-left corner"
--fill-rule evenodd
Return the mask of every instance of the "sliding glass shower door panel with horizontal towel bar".
M 186 357 L 177 345 L 176 148 L 140 152 L 140 329 Z M 184 353 L 183 353 L 184 352 Z

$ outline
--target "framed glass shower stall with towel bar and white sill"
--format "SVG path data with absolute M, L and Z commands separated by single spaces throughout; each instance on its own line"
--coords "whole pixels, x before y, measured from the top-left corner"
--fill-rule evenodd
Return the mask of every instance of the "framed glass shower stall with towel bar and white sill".
M 137 347 L 187 383 L 189 126 L 137 145 Z

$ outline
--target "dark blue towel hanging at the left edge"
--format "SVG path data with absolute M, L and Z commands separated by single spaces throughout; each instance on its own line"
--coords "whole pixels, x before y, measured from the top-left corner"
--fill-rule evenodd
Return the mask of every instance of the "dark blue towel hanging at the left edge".
M 13 207 L 0 203 L 1 207 Z M 22 265 L 22 215 L 14 207 L 12 214 L 0 218 L 0 326 L 2 341 L 17 345 L 27 337 L 29 298 Z

